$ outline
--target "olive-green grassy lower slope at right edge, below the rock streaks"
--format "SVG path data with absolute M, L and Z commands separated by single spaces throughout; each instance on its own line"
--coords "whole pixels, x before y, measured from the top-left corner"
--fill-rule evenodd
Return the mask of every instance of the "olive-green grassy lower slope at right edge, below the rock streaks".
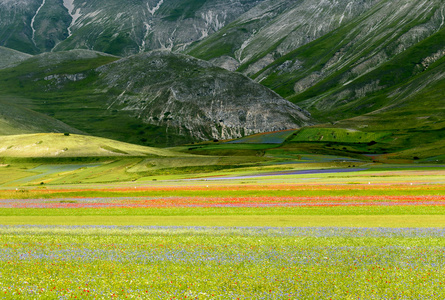
M 376 153 L 397 152 L 388 157 L 427 159 L 439 156 L 437 160 L 442 161 L 441 155 L 445 153 L 445 80 L 442 76 L 445 59 L 437 60 L 424 70 L 419 70 L 419 65 L 424 57 L 437 53 L 443 47 L 444 36 L 445 30 L 441 30 L 391 62 L 339 89 L 338 93 L 346 89 L 359 89 L 376 80 L 380 80 L 381 85 L 387 87 L 346 105 L 340 105 L 329 111 L 329 115 L 351 116 L 353 113 L 365 113 L 366 110 L 357 111 L 357 108 L 370 105 L 379 108 L 378 110 L 327 127 L 354 128 L 367 134 L 386 133 L 386 139 L 380 139 L 382 144 L 373 148 Z M 319 84 L 298 97 L 304 99 L 310 97 L 307 93 L 317 95 L 328 89 L 329 86 Z

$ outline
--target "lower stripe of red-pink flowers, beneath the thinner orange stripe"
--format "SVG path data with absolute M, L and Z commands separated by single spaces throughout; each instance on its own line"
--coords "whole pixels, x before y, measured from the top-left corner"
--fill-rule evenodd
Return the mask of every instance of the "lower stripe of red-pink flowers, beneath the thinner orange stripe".
M 0 199 L 0 208 L 150 208 L 445 205 L 445 195 L 324 197 L 95 197 Z

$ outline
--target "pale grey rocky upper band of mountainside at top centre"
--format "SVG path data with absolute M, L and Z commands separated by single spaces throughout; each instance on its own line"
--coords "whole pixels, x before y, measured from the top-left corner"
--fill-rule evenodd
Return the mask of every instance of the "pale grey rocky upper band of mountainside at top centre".
M 277 58 L 361 16 L 377 2 L 264 1 L 186 52 L 253 75 Z M 296 71 L 298 64 L 287 68 Z

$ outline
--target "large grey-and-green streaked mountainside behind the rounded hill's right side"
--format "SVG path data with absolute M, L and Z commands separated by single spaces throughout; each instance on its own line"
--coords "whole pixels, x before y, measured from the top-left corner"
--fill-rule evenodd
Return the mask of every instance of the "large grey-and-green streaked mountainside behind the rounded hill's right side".
M 445 54 L 437 35 L 444 15 L 438 0 L 263 2 L 187 53 L 243 72 L 314 116 L 333 119 L 335 110 L 340 120 L 379 108 L 357 112 L 346 103 L 399 84 Z M 413 52 L 417 70 L 377 82 L 389 73 L 384 68 L 408 65 L 405 53 Z

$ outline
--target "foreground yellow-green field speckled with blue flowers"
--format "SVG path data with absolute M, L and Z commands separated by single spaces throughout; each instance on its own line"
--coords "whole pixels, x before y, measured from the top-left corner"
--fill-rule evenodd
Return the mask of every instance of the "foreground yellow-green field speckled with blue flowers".
M 442 299 L 445 230 L 2 226 L 4 299 Z

